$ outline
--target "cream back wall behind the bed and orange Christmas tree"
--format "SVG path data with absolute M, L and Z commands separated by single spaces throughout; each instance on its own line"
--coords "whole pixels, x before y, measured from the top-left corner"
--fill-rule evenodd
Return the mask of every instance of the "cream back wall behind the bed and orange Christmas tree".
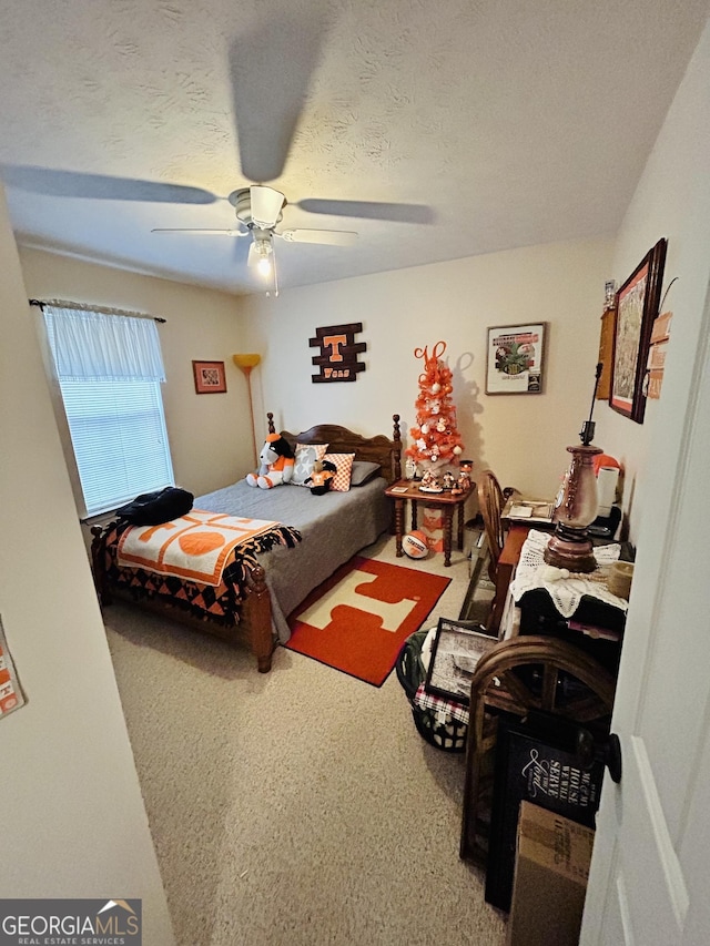
M 611 241 L 531 246 L 285 291 L 244 302 L 246 339 L 264 356 L 257 389 L 278 425 L 344 424 L 371 435 L 415 420 L 422 362 L 414 348 L 447 343 L 466 454 L 504 484 L 554 496 L 589 415 Z M 366 370 L 355 383 L 313 384 L 315 328 L 362 322 Z M 545 393 L 485 394 L 486 328 L 547 322 Z M 262 431 L 263 433 L 263 431 Z M 601 444 L 601 446 L 605 446 Z

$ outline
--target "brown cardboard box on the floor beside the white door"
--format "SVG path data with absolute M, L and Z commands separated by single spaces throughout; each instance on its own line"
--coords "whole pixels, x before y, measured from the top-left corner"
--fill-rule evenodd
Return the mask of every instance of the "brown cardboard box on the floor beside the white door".
M 507 946 L 578 946 L 595 833 L 520 803 Z

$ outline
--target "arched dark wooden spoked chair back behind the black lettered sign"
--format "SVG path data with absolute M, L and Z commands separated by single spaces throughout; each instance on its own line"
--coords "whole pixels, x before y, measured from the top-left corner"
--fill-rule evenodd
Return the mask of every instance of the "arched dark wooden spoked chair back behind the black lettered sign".
M 535 669 L 531 689 L 525 671 Z M 562 674 L 562 677 L 560 677 Z M 562 679 L 584 685 L 566 696 Z M 524 635 L 500 641 L 485 653 L 471 679 L 466 742 L 466 781 L 459 855 L 485 864 L 486 816 L 490 814 L 493 755 L 501 712 L 523 718 L 531 709 L 557 713 L 598 734 L 608 732 L 616 680 L 579 648 L 556 638 Z M 569 691 L 568 691 L 569 692 Z

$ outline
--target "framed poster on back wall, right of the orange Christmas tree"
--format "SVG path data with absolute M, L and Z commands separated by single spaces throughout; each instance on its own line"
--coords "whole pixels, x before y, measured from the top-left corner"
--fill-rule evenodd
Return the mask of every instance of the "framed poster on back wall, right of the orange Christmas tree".
M 486 394 L 541 394 L 547 323 L 488 329 Z

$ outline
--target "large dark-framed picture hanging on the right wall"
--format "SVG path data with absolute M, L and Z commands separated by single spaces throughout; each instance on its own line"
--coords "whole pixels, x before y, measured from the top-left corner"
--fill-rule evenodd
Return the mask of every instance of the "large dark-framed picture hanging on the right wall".
M 637 424 L 643 423 L 643 379 L 653 319 L 660 304 L 666 240 L 646 254 L 617 293 L 613 370 L 609 406 Z

